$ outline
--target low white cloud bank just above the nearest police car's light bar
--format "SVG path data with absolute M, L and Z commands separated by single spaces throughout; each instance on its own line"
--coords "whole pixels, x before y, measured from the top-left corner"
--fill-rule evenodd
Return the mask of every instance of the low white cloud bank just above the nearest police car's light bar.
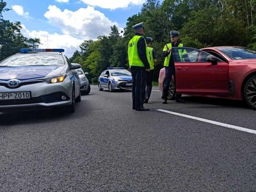
M 27 38 L 39 38 L 41 44 L 39 48 L 50 48 L 50 49 L 64 49 L 64 54 L 70 58 L 76 50 L 79 50 L 79 45 L 84 39 L 72 37 L 67 34 L 49 34 L 47 31 L 29 31 L 24 25 L 21 25 L 21 33 Z M 47 44 L 48 36 L 48 44 Z

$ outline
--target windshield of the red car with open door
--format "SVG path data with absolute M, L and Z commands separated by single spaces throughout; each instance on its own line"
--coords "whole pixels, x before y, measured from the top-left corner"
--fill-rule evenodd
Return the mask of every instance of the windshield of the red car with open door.
M 243 47 L 220 47 L 217 48 L 233 60 L 256 59 L 256 52 Z

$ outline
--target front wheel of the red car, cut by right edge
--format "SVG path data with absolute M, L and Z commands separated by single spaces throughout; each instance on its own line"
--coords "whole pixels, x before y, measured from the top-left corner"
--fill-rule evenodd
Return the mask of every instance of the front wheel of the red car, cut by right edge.
M 251 108 L 256 110 L 256 75 L 246 82 L 244 86 L 244 99 Z

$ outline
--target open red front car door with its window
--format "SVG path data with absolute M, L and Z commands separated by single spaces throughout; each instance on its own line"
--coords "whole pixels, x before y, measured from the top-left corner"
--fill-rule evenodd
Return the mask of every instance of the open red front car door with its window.
M 228 63 L 194 48 L 173 47 L 176 91 L 187 94 L 228 95 Z

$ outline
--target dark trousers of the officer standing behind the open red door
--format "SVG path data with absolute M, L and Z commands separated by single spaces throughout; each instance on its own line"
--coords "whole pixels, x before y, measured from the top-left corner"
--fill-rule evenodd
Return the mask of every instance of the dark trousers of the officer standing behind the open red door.
M 174 81 L 175 81 L 175 67 L 172 65 L 169 67 L 165 67 L 165 78 L 164 78 L 162 99 L 168 97 L 168 92 L 169 92 L 169 87 L 170 87 L 172 76 L 174 76 Z M 179 97 L 181 97 L 181 94 L 175 95 L 175 98 L 179 98 Z

